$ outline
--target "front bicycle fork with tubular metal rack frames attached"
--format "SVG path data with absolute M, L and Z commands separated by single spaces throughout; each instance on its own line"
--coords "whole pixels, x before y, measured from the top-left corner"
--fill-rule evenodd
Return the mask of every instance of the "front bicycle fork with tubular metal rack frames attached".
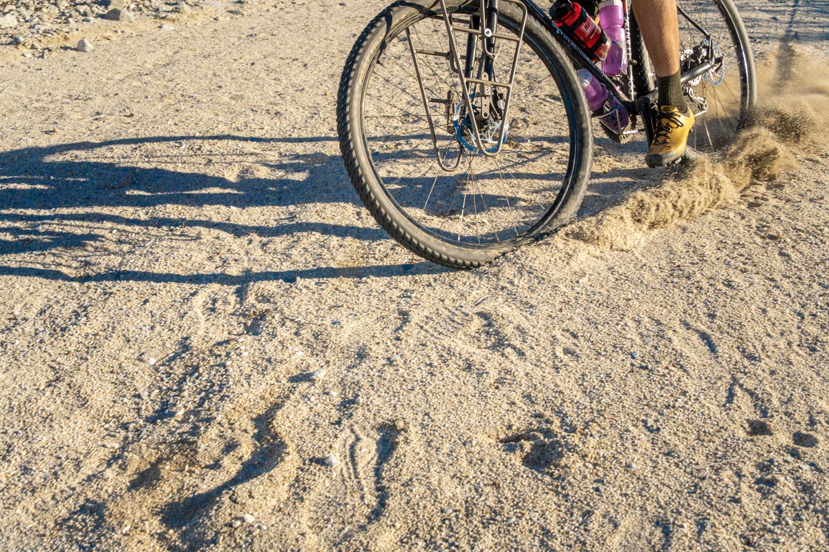
M 415 48 L 412 37 L 408 29 L 406 29 L 406 38 L 408 39 L 410 53 L 414 61 L 414 71 L 417 76 L 418 85 L 420 89 L 420 97 L 423 100 L 426 118 L 429 122 L 429 131 L 432 135 L 432 145 L 434 147 L 435 156 L 437 156 L 438 163 L 441 169 L 446 171 L 457 170 L 460 165 L 461 156 L 463 154 L 463 142 L 459 135 L 457 127 L 458 121 L 454 121 L 455 128 L 447 129 L 449 132 L 458 133 L 458 158 L 455 160 L 453 166 L 444 164 L 444 159 L 440 154 L 437 136 L 434 130 L 434 121 L 429 111 L 429 102 L 444 103 L 446 105 L 447 120 L 451 116 L 453 110 L 455 118 L 457 119 L 458 108 L 463 106 L 465 108 L 467 117 L 469 119 L 468 132 L 472 138 L 472 146 L 477 149 L 477 152 L 484 156 L 497 156 L 501 152 L 502 146 L 507 137 L 508 114 L 512 96 L 512 89 L 515 84 L 516 67 L 518 65 L 518 56 L 521 54 L 521 42 L 524 38 L 524 29 L 526 27 L 527 10 L 526 6 L 520 0 L 500 0 L 502 2 L 509 2 L 518 7 L 521 11 L 521 24 L 516 35 L 504 34 L 498 32 L 498 2 L 499 0 L 479 0 L 478 14 L 473 14 L 469 17 L 468 22 L 456 21 L 453 14 L 448 12 L 446 2 L 439 0 L 440 9 L 442 12 L 444 25 L 448 34 L 448 52 L 439 52 L 433 50 L 423 50 Z M 468 23 L 467 26 L 462 26 L 462 23 Z M 466 48 L 464 55 L 458 52 L 458 44 L 455 40 L 454 33 L 459 32 L 467 36 Z M 515 43 L 515 50 L 512 55 L 512 62 L 509 71 L 509 78 L 504 80 L 497 80 L 494 75 L 494 65 L 497 58 L 498 51 L 496 50 L 496 41 L 509 41 Z M 478 51 L 480 50 L 480 55 Z M 449 89 L 447 97 L 432 98 L 426 97 L 426 90 L 421 78 L 419 63 L 417 55 L 434 55 L 444 57 L 449 61 L 449 67 L 453 73 L 458 75 L 460 81 L 460 103 L 456 108 L 453 105 L 455 99 L 453 90 Z M 461 63 L 463 60 L 463 64 Z M 476 61 L 480 63 L 476 64 Z M 477 71 L 476 71 L 477 67 Z M 482 140 L 479 124 L 487 123 L 492 120 L 493 113 L 497 118 L 501 119 L 497 131 L 497 138 L 495 146 L 487 149 L 485 142 Z M 448 121 L 447 121 L 448 124 Z M 491 138 L 491 137 L 490 137 Z M 492 143 L 492 141 L 490 141 Z

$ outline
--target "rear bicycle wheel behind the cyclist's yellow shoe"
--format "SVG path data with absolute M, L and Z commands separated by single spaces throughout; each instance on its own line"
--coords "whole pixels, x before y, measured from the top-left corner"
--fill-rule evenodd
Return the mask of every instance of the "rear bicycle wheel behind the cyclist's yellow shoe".
M 683 85 L 696 114 L 688 146 L 722 151 L 748 121 L 757 102 L 757 76 L 749 37 L 732 0 L 677 0 L 683 72 L 712 68 Z

